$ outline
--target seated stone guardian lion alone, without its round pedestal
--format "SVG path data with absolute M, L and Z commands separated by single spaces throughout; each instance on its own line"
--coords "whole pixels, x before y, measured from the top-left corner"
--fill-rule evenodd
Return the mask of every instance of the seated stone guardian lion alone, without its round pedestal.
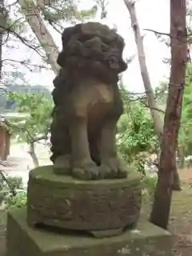
M 66 28 L 54 79 L 51 160 L 54 171 L 80 179 L 125 178 L 115 132 L 123 111 L 118 74 L 124 41 L 97 22 Z

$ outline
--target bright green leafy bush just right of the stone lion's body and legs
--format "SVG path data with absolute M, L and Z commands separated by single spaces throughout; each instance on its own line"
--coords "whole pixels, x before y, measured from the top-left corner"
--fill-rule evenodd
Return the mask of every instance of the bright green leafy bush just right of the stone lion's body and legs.
M 118 151 L 128 164 L 134 163 L 138 171 L 145 175 L 146 152 L 154 153 L 158 147 L 154 124 L 149 110 L 142 106 L 141 98 L 131 96 L 123 88 L 122 98 L 125 113 L 118 122 Z

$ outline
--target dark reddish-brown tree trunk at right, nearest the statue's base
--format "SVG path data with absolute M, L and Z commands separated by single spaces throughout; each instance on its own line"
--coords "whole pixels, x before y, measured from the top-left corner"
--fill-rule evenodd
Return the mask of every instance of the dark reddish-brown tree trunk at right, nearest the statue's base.
M 176 169 L 178 129 L 186 77 L 186 0 L 170 0 L 170 47 L 170 84 L 161 144 L 159 177 L 150 215 L 150 222 L 164 229 L 167 229 L 169 222 L 171 184 Z

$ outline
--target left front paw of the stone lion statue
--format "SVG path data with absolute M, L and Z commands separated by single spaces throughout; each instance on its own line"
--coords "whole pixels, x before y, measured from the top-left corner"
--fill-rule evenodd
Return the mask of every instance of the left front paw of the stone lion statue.
M 72 175 L 83 180 L 98 179 L 98 166 L 91 160 L 74 162 Z

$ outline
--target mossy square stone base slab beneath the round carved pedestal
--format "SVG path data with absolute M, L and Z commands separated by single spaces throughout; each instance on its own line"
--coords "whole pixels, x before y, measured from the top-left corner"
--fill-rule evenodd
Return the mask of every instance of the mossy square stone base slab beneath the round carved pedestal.
M 160 256 L 173 255 L 172 236 L 150 224 L 138 223 L 113 238 L 55 234 L 26 224 L 26 209 L 12 210 L 7 223 L 7 256 Z

